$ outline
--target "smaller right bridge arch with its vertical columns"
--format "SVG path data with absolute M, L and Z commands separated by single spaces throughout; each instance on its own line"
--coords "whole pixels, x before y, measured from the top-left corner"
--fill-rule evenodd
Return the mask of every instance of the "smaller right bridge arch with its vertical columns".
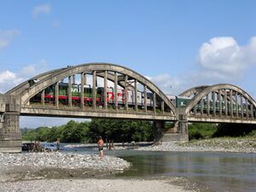
M 256 102 L 245 90 L 233 84 L 202 86 L 186 106 L 188 116 L 224 116 L 235 119 L 255 119 Z M 183 96 L 194 93 L 196 88 L 183 92 Z M 201 115 L 198 114 L 201 113 Z

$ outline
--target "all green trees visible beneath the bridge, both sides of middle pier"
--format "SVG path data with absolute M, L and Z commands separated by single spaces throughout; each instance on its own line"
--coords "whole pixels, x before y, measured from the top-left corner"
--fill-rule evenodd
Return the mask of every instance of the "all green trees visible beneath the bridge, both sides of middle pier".
M 173 127 L 166 123 L 166 131 Z M 37 129 L 21 129 L 22 139 L 26 141 L 61 143 L 96 143 L 99 136 L 104 140 L 118 143 L 152 142 L 154 140 L 153 122 L 143 120 L 92 119 L 90 122 L 70 120 L 66 125 Z M 245 124 L 189 124 L 189 140 L 211 137 L 255 137 L 255 125 Z

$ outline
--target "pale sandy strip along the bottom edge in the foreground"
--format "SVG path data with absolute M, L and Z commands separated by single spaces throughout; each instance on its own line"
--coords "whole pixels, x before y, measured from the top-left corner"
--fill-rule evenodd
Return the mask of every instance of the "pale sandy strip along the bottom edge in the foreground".
M 183 187 L 175 186 L 166 180 L 143 179 L 44 179 L 34 181 L 20 181 L 15 183 L 1 183 L 0 191 L 19 192 L 184 192 Z

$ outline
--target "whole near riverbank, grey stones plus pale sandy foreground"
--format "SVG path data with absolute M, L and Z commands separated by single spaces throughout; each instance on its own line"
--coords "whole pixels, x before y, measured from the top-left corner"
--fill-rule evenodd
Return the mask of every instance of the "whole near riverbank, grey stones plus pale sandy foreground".
M 0 191 L 199 191 L 179 177 L 168 179 L 106 179 L 130 163 L 96 154 L 26 153 L 0 154 Z M 193 188 L 194 186 L 194 188 Z

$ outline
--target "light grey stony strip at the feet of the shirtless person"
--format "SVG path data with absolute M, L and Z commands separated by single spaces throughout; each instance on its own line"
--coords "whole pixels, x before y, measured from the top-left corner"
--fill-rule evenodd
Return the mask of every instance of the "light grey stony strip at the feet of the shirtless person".
M 123 170 L 130 164 L 117 157 L 104 156 L 102 160 L 96 154 L 65 154 L 52 153 L 26 153 L 26 154 L 0 154 L 0 169 L 9 166 L 29 166 L 32 168 L 54 167 L 63 169 L 90 168 L 95 170 Z

